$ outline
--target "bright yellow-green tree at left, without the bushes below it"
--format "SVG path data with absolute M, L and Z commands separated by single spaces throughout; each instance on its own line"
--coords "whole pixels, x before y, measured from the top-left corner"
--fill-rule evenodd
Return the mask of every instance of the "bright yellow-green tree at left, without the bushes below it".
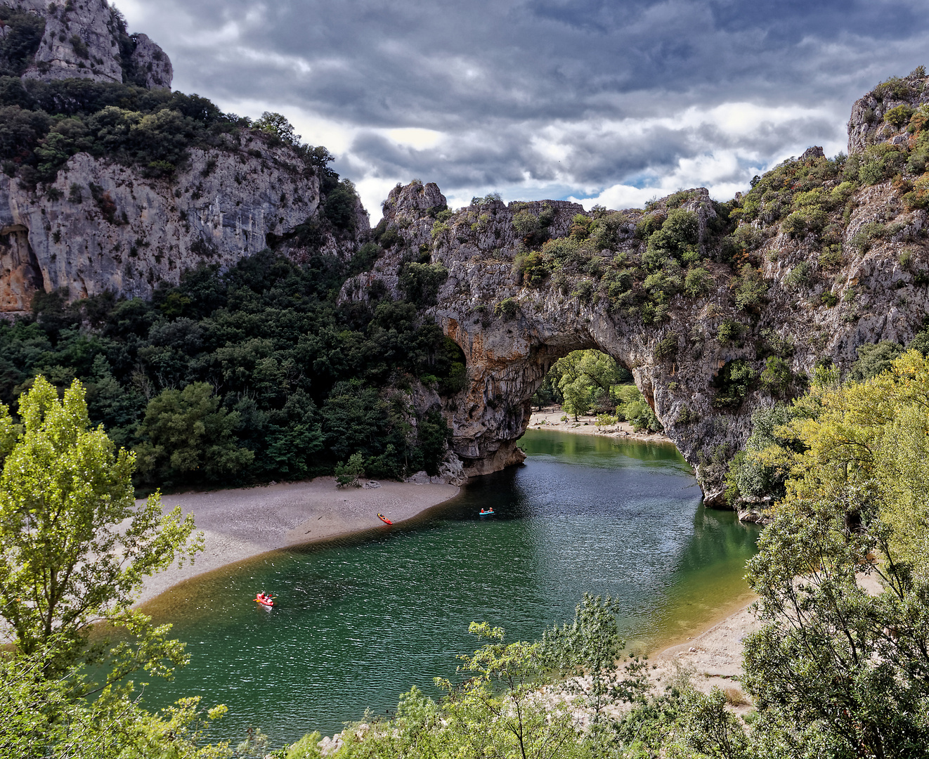
M 52 643 L 46 674 L 85 654 L 95 622 L 124 627 L 136 647 L 114 650 L 109 682 L 144 666 L 183 660 L 169 627 L 151 628 L 131 609 L 143 579 L 176 558 L 193 560 L 203 536 L 180 507 L 163 515 L 161 497 L 136 507 L 135 456 L 114 451 L 102 427 L 91 429 L 84 387 L 75 380 L 58 394 L 44 377 L 20 399 L 22 426 L 0 407 L 0 443 L 8 450 L 0 475 L 0 617 L 17 651 L 32 655 Z M 128 520 L 128 521 L 126 521 Z M 122 525 L 121 525 L 122 523 Z

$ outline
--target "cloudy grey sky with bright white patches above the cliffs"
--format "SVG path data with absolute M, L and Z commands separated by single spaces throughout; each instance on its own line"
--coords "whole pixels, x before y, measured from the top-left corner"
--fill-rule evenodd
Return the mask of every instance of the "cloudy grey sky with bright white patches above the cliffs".
M 398 181 L 451 206 L 718 200 L 851 105 L 929 65 L 924 0 L 115 0 L 175 87 L 280 111 L 325 145 L 373 220 Z

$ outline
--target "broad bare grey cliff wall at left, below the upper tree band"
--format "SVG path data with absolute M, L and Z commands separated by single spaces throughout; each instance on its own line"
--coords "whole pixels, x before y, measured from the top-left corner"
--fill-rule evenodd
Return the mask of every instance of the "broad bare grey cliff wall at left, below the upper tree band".
M 36 290 L 149 297 L 184 269 L 226 267 L 280 245 L 319 206 L 319 178 L 293 150 L 258 137 L 234 150 L 191 150 L 171 180 L 85 153 L 41 194 L 0 175 L 0 310 L 28 309 Z M 329 235 L 322 247 L 350 255 L 353 245 Z

